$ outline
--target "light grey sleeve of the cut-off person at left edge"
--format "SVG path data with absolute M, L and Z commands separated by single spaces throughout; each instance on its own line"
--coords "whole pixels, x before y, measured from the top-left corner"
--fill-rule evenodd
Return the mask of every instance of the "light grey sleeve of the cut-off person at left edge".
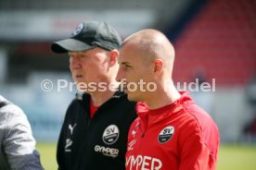
M 6 114 L 3 145 L 11 169 L 44 169 L 35 149 L 35 140 L 27 116 L 14 104 L 7 105 L 3 112 Z

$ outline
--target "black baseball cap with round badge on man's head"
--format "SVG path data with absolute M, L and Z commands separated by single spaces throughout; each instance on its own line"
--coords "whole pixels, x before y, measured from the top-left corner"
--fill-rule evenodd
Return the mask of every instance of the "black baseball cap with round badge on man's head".
M 106 22 L 87 21 L 79 24 L 70 38 L 53 42 L 55 53 L 83 52 L 96 46 L 108 51 L 119 49 L 122 43 L 119 33 Z

